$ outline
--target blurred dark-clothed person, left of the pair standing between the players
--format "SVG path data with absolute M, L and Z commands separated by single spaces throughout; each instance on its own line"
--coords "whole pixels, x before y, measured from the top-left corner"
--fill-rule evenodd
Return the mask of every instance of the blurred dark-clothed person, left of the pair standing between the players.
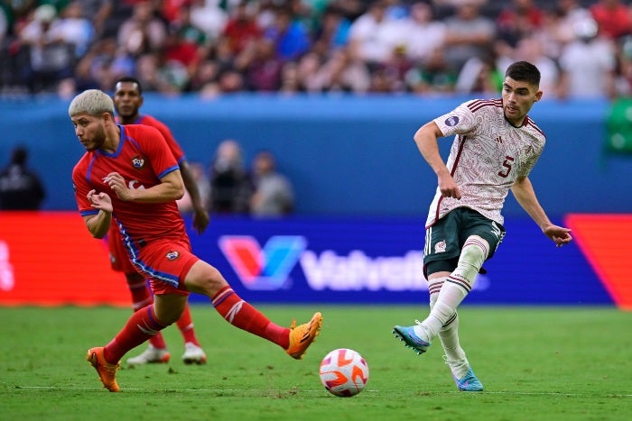
M 222 141 L 210 165 L 210 210 L 216 214 L 247 214 L 252 193 L 239 143 Z

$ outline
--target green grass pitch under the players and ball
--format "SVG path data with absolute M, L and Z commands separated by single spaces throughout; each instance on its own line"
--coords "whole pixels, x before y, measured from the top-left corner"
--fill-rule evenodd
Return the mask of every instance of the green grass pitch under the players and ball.
M 163 331 L 169 364 L 118 372 L 101 387 L 84 360 L 130 310 L 0 307 L 1 420 L 628 420 L 632 419 L 632 313 L 592 307 L 461 307 L 461 343 L 485 385 L 458 391 L 437 342 L 422 356 L 390 333 L 426 307 L 258 306 L 274 322 L 320 310 L 318 341 L 302 361 L 193 307 L 204 366 L 181 360 L 175 326 Z M 353 398 L 322 388 L 321 358 L 353 348 L 370 379 Z M 128 356 L 144 349 L 144 345 Z

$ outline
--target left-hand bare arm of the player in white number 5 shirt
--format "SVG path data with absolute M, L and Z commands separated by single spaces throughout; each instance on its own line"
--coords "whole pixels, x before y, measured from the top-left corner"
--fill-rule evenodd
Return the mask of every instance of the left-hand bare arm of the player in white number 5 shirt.
M 414 133 L 414 142 L 417 148 L 422 152 L 423 159 L 428 162 L 430 168 L 437 175 L 439 190 L 443 197 L 454 197 L 460 199 L 460 190 L 457 183 L 450 174 L 450 170 L 443 162 L 441 153 L 439 153 L 439 142 L 437 140 L 443 137 L 443 133 L 439 126 L 432 122 L 423 124 L 423 126 Z

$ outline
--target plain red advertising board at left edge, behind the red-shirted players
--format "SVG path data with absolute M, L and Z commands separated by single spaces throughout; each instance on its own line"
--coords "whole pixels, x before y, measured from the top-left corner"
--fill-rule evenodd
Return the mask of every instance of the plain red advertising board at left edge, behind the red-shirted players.
M 0 212 L 0 306 L 125 306 L 125 277 L 77 212 Z

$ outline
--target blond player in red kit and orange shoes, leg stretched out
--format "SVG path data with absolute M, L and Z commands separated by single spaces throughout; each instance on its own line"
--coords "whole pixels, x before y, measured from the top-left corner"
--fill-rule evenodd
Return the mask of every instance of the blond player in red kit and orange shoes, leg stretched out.
M 176 322 L 191 292 L 209 297 L 231 325 L 302 359 L 321 330 L 321 313 L 303 325 L 276 325 L 238 297 L 216 268 L 191 252 L 176 205 L 184 193 L 181 170 L 160 132 L 140 124 L 116 124 L 112 98 L 98 89 L 75 96 L 69 115 L 86 149 L 72 170 L 72 182 L 88 232 L 103 238 L 116 223 L 130 261 L 149 279 L 154 294 L 153 304 L 136 311 L 106 346 L 88 350 L 87 361 L 103 385 L 119 391 L 120 359 Z

